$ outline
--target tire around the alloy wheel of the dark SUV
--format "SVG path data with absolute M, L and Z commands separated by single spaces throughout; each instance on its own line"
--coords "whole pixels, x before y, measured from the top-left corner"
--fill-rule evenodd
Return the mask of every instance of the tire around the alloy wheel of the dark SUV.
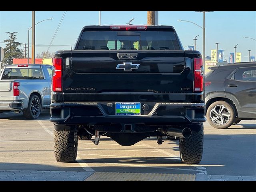
M 224 107 L 228 108 L 228 110 L 230 111 L 230 120 L 224 125 L 216 125 L 216 124 L 214 124 L 214 122 L 212 122 L 212 120 L 210 118 L 211 109 L 214 108 L 215 106 L 218 106 L 218 105 L 223 105 Z M 216 101 L 216 102 L 212 103 L 208 107 L 208 110 L 206 112 L 207 121 L 209 122 L 209 124 L 211 126 L 213 126 L 214 128 L 217 128 L 217 129 L 226 129 L 226 128 L 230 127 L 233 124 L 233 122 L 235 120 L 235 117 L 236 117 L 236 112 L 235 112 L 234 107 L 231 104 L 229 104 L 228 102 L 225 102 L 225 101 Z

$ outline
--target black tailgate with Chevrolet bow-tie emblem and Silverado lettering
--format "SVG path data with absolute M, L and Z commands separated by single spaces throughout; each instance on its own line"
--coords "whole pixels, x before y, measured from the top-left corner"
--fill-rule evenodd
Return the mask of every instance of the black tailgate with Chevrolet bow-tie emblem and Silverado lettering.
M 192 100 L 193 59 L 183 50 L 77 50 L 62 58 L 64 101 Z

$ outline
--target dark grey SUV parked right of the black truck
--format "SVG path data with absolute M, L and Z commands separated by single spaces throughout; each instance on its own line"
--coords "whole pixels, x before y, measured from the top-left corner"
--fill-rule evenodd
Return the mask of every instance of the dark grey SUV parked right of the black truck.
M 256 119 L 256 62 L 210 67 L 205 86 L 206 117 L 214 128 Z

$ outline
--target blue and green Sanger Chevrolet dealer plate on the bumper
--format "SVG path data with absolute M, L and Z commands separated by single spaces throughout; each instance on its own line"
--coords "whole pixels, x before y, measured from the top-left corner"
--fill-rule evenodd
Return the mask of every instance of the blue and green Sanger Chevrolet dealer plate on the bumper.
M 116 103 L 116 115 L 140 115 L 140 103 L 136 103 L 136 102 Z

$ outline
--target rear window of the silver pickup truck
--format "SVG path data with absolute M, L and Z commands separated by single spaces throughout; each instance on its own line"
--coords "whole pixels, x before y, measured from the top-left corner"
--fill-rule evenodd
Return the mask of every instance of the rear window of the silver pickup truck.
M 2 79 L 44 79 L 41 68 L 5 68 Z

